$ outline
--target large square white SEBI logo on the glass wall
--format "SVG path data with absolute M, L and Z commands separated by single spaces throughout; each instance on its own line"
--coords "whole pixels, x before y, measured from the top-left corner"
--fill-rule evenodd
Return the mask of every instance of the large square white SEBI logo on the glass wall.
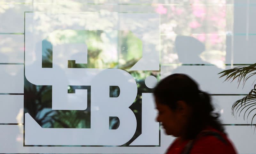
M 52 25 L 40 30 L 38 15 L 27 13 L 25 20 L 25 146 L 159 145 L 152 94 L 138 91 L 156 84 L 147 72 L 159 70 L 159 22 L 136 27 L 145 15 L 119 13 L 106 30 L 102 23 L 115 13 L 107 19 L 60 14 L 49 15 Z M 71 24 L 59 24 L 64 16 Z M 77 23 L 92 16 L 97 23 Z M 134 72 L 143 72 L 145 82 L 138 85 Z M 131 107 L 136 100 L 141 117 Z

